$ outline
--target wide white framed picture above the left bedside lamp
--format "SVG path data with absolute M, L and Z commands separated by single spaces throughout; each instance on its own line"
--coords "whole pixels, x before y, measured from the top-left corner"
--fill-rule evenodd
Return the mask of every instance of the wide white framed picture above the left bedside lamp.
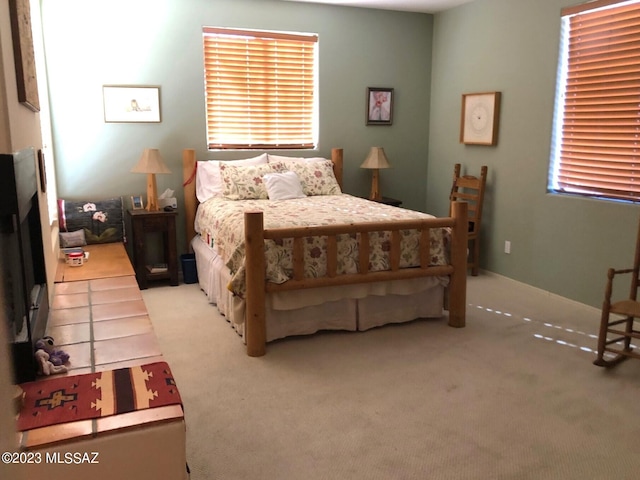
M 103 85 L 106 123 L 159 123 L 160 87 Z

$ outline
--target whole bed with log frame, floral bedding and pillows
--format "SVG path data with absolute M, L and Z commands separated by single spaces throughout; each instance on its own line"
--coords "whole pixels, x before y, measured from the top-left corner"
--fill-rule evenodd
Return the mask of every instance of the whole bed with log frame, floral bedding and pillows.
M 433 217 L 342 192 L 331 159 L 197 161 L 183 150 L 198 281 L 250 356 L 319 330 L 442 317 L 465 326 L 467 205 Z

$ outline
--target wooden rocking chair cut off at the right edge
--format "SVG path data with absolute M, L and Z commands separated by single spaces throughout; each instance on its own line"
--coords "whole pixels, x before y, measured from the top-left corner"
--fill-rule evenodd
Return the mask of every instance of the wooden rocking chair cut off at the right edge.
M 593 362 L 599 367 L 612 367 L 629 357 L 640 358 L 634 351 L 631 339 L 640 340 L 640 331 L 635 328 L 636 319 L 640 318 L 640 302 L 638 302 L 638 272 L 640 266 L 640 221 L 636 234 L 636 253 L 633 268 L 607 272 L 607 286 L 602 303 L 602 317 L 598 334 L 598 356 Z M 616 275 L 631 274 L 629 298 L 612 302 L 613 281 Z M 606 358 L 605 352 L 609 353 Z

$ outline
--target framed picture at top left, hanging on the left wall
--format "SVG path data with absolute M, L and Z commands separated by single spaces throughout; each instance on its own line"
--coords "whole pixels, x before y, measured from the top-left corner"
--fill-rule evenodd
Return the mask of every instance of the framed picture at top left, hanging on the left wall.
M 9 0 L 13 55 L 16 62 L 18 101 L 28 109 L 39 112 L 38 79 L 31 33 L 29 0 Z

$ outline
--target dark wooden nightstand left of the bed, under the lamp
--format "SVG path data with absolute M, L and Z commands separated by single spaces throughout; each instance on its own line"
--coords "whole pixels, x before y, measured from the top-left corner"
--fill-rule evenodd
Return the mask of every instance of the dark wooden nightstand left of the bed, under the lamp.
M 140 290 L 148 287 L 149 280 L 169 279 L 172 286 L 178 285 L 178 248 L 176 244 L 176 217 L 178 212 L 148 212 L 146 210 L 129 210 L 132 227 L 133 265 Z M 166 271 L 151 272 L 147 268 L 146 234 L 162 233 L 164 262 Z

